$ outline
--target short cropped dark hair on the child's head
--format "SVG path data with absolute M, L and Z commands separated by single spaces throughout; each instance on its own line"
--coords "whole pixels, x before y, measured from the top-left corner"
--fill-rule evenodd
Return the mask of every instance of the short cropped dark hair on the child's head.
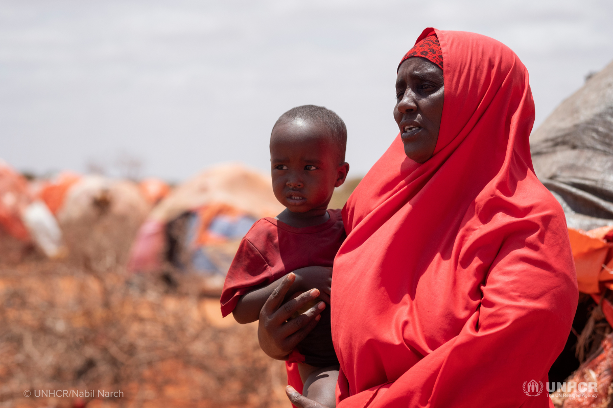
M 324 106 L 302 105 L 289 109 L 277 119 L 275 126 L 303 119 L 305 121 L 319 122 L 323 124 L 332 136 L 332 141 L 338 150 L 338 163 L 345 161 L 345 150 L 347 149 L 347 127 L 345 122 L 336 113 Z

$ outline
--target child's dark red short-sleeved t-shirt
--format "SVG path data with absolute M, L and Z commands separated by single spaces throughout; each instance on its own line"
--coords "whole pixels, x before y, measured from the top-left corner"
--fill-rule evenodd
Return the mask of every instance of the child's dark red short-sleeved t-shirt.
M 240 243 L 221 292 L 221 313 L 232 313 L 238 299 L 258 286 L 265 286 L 293 270 L 307 266 L 332 267 L 345 240 L 341 210 L 328 210 L 325 223 L 295 228 L 275 218 L 257 221 Z M 332 347 L 330 305 L 317 326 L 292 352 L 286 362 L 289 384 L 302 393 L 302 380 L 295 362 L 315 366 L 338 364 Z M 302 353 L 302 354 L 301 354 Z M 335 363 L 334 363 L 335 362 Z

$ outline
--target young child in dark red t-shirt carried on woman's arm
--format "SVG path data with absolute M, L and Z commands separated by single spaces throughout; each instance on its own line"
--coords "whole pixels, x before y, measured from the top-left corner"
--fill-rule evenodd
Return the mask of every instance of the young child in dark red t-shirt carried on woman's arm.
M 341 211 L 327 206 L 349 171 L 346 141 L 345 123 L 321 106 L 298 106 L 276 121 L 270 135 L 272 184 L 286 209 L 253 224 L 240 243 L 221 294 L 223 316 L 232 312 L 244 324 L 259 319 L 268 296 L 290 272 L 296 278 L 288 298 L 319 289 L 326 308 L 289 355 L 287 371 L 290 385 L 328 407 L 335 406 L 338 377 L 330 331 L 331 267 L 345 229 Z M 310 266 L 328 268 L 303 269 Z M 298 363 L 303 384 L 292 384 L 292 362 Z

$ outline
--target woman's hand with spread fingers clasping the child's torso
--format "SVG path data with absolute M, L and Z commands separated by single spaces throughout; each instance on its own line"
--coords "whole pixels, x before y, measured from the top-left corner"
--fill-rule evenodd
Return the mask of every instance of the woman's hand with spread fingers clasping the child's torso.
M 319 302 L 305 313 L 288 322 L 287 319 L 302 305 L 319 296 L 318 289 L 311 289 L 299 297 L 283 303 L 283 299 L 295 278 L 296 275 L 293 272 L 288 273 L 281 284 L 270 294 L 260 311 L 257 338 L 262 351 L 276 360 L 287 359 L 287 355 L 313 330 L 313 327 L 319 321 L 319 313 L 326 308 L 326 303 Z

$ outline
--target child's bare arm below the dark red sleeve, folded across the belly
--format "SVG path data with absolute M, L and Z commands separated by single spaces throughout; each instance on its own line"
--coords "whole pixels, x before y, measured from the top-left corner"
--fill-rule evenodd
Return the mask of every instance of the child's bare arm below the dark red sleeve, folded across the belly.
M 289 272 L 288 272 L 289 273 Z M 319 298 L 330 303 L 330 283 L 332 282 L 332 268 L 324 266 L 310 266 L 294 271 L 296 279 L 287 292 L 286 298 L 295 292 L 306 292 L 310 289 L 319 289 Z M 260 318 L 262 306 L 281 283 L 284 275 L 278 280 L 264 287 L 259 287 L 247 292 L 238 299 L 238 303 L 232 311 L 232 316 L 240 324 L 257 321 Z

